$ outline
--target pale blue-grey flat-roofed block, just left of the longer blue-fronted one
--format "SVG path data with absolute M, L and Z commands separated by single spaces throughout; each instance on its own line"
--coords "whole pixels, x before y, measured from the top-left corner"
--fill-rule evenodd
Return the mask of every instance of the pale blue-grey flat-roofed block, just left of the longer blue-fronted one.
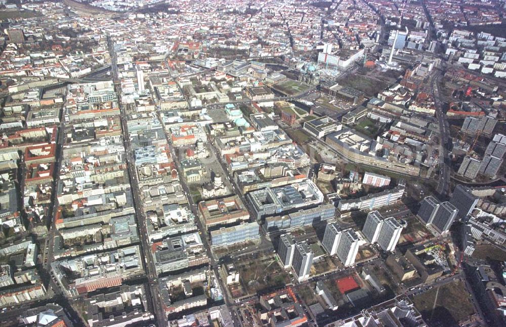
M 258 222 L 245 222 L 236 226 L 211 231 L 212 246 L 228 246 L 256 240 L 260 237 Z

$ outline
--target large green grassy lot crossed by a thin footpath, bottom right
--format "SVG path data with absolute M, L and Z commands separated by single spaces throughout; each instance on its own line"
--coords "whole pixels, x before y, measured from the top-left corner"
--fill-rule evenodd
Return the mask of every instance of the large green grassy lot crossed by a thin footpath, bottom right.
M 459 279 L 441 286 L 439 292 L 435 288 L 416 295 L 413 303 L 432 326 L 458 326 L 459 321 L 467 320 L 475 312 L 469 293 Z

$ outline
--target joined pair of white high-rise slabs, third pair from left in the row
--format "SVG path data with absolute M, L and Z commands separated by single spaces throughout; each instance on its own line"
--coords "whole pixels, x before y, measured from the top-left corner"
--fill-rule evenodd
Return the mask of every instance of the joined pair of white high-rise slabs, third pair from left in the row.
M 369 212 L 362 232 L 370 243 L 377 243 L 384 251 L 395 250 L 403 226 L 394 218 L 383 218 L 377 211 Z

